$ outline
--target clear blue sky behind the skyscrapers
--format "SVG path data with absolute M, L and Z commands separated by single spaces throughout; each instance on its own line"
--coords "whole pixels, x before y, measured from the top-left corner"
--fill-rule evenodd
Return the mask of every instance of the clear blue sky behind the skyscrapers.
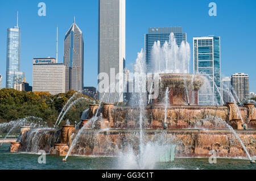
M 46 3 L 46 16 L 38 16 L 38 3 Z M 209 3 L 217 4 L 217 16 L 209 16 Z M 195 36 L 221 36 L 221 73 L 244 72 L 250 76 L 250 91 L 256 92 L 256 1 L 207 0 L 126 0 L 126 67 L 131 69 L 137 52 L 144 48 L 148 27 L 182 26 L 188 43 Z M 56 26 L 59 26 L 59 62 L 63 62 L 65 32 L 76 23 L 84 35 L 84 85 L 97 86 L 98 1 L 0 2 L 0 73 L 6 78 L 7 28 L 21 28 L 21 71 L 32 85 L 32 59 L 55 57 Z M 192 73 L 191 57 L 191 73 Z

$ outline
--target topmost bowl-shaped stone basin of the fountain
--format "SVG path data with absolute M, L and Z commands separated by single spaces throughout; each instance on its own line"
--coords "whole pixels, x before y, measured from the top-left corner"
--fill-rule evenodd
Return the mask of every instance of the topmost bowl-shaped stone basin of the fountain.
M 198 91 L 204 77 L 194 74 L 159 74 L 160 87 L 158 102 L 164 100 L 169 87 L 170 105 L 198 105 Z

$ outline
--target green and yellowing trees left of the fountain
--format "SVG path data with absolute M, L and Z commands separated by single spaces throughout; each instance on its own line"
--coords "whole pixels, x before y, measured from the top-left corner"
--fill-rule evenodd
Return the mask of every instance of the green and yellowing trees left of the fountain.
M 49 92 L 26 92 L 14 89 L 0 90 L 0 123 L 22 119 L 28 116 L 40 117 L 47 122 L 49 127 L 55 124 L 59 113 L 68 100 L 76 91 L 69 91 L 57 95 Z M 71 124 L 80 121 L 81 114 L 89 108 L 94 100 L 88 96 L 77 94 L 75 98 L 83 99 L 67 112 L 64 120 L 69 120 Z

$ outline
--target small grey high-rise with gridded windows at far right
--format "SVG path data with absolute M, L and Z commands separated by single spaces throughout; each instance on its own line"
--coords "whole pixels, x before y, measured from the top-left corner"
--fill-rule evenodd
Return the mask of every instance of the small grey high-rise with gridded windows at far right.
M 250 92 L 249 92 L 249 75 L 248 74 L 245 74 L 245 73 L 233 74 L 231 78 L 231 84 L 234 89 L 234 92 L 233 92 L 234 98 L 236 99 L 237 102 L 242 101 L 243 99 L 249 98 Z

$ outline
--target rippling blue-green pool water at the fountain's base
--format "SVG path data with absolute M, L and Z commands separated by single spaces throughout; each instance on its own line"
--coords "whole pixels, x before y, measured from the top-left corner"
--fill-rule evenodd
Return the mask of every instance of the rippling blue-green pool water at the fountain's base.
M 46 164 L 39 164 L 36 154 L 9 153 L 10 144 L 0 147 L 0 169 L 120 169 L 115 157 L 62 157 L 46 155 Z M 256 165 L 245 159 L 217 159 L 217 164 L 209 164 L 207 158 L 175 158 L 172 163 L 158 163 L 155 169 L 246 169 L 255 170 Z

